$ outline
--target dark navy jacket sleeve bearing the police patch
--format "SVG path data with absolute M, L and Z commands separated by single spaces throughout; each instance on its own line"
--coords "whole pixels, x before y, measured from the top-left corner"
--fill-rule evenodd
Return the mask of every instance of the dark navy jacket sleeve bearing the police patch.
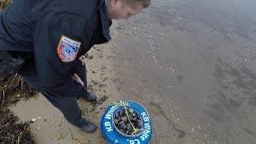
M 78 82 L 71 78 L 72 61 L 64 61 L 63 55 L 58 54 L 58 46 L 62 45 L 61 38 L 65 36 L 74 42 L 81 42 L 78 53 L 86 45 L 90 36 L 86 34 L 86 20 L 72 14 L 46 14 L 34 25 L 34 59 L 38 78 L 46 84 L 46 91 L 57 96 L 77 96 L 81 91 Z M 64 54 L 65 57 L 65 54 Z

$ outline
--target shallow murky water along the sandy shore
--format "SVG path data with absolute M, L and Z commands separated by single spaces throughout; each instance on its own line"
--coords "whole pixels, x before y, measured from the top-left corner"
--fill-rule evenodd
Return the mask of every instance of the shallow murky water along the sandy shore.
M 255 6 L 154 0 L 118 22 L 122 92 L 150 111 L 153 143 L 256 142 Z

